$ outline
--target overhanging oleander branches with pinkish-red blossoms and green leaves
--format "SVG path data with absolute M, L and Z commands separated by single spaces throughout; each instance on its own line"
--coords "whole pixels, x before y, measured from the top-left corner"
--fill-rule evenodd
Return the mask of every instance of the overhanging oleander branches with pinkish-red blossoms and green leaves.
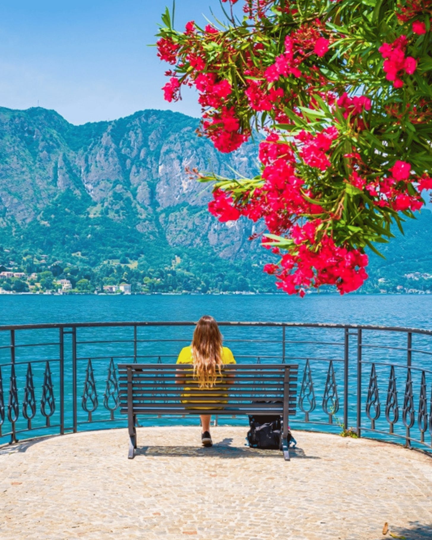
M 158 56 L 174 66 L 165 99 L 195 87 L 203 134 L 220 152 L 266 134 L 258 177 L 199 175 L 215 182 L 210 212 L 264 224 L 262 242 L 280 256 L 265 271 L 284 291 L 343 294 L 367 279 L 365 249 L 392 237 L 399 213 L 413 217 L 432 189 L 432 0 L 403 0 L 396 12 L 383 4 L 386 25 L 372 4 L 338 0 L 319 16 L 314 5 L 245 0 L 243 22 L 220 30 L 168 25 Z

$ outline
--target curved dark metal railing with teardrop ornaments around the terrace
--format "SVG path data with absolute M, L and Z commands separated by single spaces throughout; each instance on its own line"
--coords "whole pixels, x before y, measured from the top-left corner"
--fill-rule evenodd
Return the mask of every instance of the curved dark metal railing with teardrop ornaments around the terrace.
M 0 327 L 0 443 L 125 426 L 118 410 L 117 363 L 175 361 L 191 342 L 194 325 Z M 292 427 L 432 449 L 432 331 L 284 322 L 219 325 L 238 362 L 299 364 Z M 146 419 L 147 424 L 170 421 Z M 245 419 L 228 420 L 239 421 Z

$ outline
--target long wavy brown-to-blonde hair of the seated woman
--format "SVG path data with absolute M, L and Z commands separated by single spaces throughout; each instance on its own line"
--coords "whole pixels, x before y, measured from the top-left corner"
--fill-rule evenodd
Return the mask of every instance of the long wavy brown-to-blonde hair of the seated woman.
M 198 321 L 192 339 L 193 375 L 199 388 L 212 388 L 221 375 L 222 334 L 210 315 Z

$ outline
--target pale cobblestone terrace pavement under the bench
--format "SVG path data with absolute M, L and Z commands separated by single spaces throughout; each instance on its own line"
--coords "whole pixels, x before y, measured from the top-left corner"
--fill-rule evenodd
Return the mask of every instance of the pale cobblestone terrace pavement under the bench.
M 432 538 L 432 457 L 297 432 L 285 462 L 245 433 L 140 428 L 134 460 L 124 429 L 0 447 L 0 539 Z

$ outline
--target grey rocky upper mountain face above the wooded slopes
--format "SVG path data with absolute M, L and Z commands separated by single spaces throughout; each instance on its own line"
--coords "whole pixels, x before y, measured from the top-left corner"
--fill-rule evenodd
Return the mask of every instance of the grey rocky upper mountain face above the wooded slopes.
M 258 242 L 251 246 L 248 241 L 252 225 L 220 224 L 208 214 L 210 186 L 191 179 L 187 168 L 226 176 L 232 175 L 231 168 L 255 174 L 256 152 L 249 144 L 224 156 L 197 137 L 197 127 L 198 120 L 170 111 L 141 111 L 113 122 L 75 126 L 39 107 L 0 109 L 3 237 L 12 231 L 27 238 L 29 230 L 43 226 L 56 244 L 52 227 L 58 228 L 63 213 L 69 227 L 80 222 L 81 227 L 69 231 L 75 235 L 88 236 L 83 222 L 90 226 L 89 219 L 96 223 L 104 217 L 132 227 L 138 241 L 204 246 L 222 258 L 246 257 L 258 249 Z M 84 238 L 83 243 L 88 245 Z

